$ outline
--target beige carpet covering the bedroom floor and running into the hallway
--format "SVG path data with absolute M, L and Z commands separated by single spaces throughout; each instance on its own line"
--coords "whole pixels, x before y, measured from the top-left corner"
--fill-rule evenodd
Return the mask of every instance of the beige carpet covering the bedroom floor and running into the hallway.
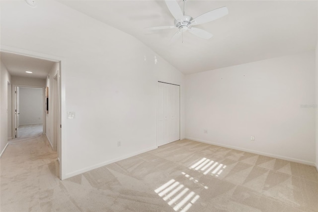
M 43 135 L 1 158 L 1 212 L 318 211 L 315 167 L 181 140 L 70 179 Z

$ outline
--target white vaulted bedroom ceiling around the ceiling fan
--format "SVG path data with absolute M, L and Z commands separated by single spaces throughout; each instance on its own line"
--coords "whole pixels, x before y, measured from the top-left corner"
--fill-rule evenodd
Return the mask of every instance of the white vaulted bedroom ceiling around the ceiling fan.
M 60 0 L 82 13 L 136 37 L 184 74 L 208 71 L 302 51 L 317 44 L 317 1 L 187 0 L 185 13 L 196 16 L 227 6 L 229 14 L 197 25 L 214 36 L 204 40 L 184 33 L 169 45 L 177 29 L 163 0 Z M 177 0 L 180 6 L 183 1 Z

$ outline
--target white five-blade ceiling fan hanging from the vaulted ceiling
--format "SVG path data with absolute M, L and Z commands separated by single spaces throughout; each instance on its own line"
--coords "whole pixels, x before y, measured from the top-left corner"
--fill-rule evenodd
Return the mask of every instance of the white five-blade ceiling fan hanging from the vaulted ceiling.
M 183 0 L 183 12 L 182 12 L 176 0 L 165 0 L 165 3 L 169 11 L 174 17 L 174 26 L 155 26 L 155 27 L 148 27 L 146 29 L 158 30 L 158 29 L 178 28 L 178 31 L 172 36 L 170 43 L 178 39 L 181 35 L 182 35 L 182 43 L 183 43 L 183 32 L 185 31 L 189 31 L 190 33 L 204 39 L 210 39 L 213 36 L 210 32 L 207 32 L 203 29 L 192 27 L 192 26 L 216 20 L 229 13 L 228 8 L 226 6 L 223 6 L 218 9 L 213 9 L 209 12 L 201 14 L 196 18 L 192 18 L 191 16 L 186 15 L 184 12 L 185 1 L 186 0 Z

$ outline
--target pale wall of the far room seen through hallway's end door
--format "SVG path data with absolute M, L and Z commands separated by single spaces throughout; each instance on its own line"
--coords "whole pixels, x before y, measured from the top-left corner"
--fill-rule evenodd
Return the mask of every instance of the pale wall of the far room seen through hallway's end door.
M 20 87 L 20 125 L 43 123 L 43 89 Z

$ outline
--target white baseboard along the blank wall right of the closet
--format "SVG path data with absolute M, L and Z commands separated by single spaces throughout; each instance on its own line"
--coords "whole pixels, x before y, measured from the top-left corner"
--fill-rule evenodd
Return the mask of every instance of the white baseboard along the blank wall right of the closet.
M 221 143 L 215 143 L 215 142 L 210 142 L 210 141 L 200 140 L 200 139 L 195 139 L 195 138 L 186 137 L 185 139 L 198 141 L 198 142 L 202 142 L 202 143 L 213 144 L 213 145 L 222 146 L 222 147 L 227 147 L 227 148 L 236 149 L 236 150 L 240 150 L 240 151 L 244 151 L 244 152 L 250 152 L 250 153 L 254 153 L 254 154 L 258 154 L 258 155 L 264 155 L 267 157 L 278 158 L 278 159 L 287 160 L 287 161 L 291 161 L 291 162 L 302 163 L 302 164 L 306 164 L 306 165 L 310 165 L 310 166 L 315 166 L 314 162 L 310 162 L 310 161 L 306 161 L 306 160 L 300 160 L 300 159 L 296 159 L 296 158 L 290 158 L 290 157 L 270 154 L 270 153 L 266 153 L 266 152 L 259 152 L 259 151 L 254 151 L 251 149 L 244 149 L 244 148 L 239 148 L 237 146 L 225 145 L 225 144 L 221 144 Z

